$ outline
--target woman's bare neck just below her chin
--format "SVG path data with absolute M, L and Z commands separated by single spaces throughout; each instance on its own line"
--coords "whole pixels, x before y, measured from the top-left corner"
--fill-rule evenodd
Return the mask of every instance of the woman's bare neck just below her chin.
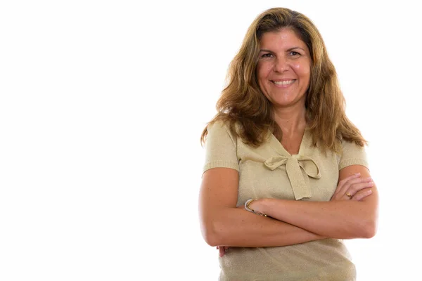
M 286 107 L 274 109 L 274 121 L 283 134 L 291 135 L 305 130 L 306 109 L 303 107 Z

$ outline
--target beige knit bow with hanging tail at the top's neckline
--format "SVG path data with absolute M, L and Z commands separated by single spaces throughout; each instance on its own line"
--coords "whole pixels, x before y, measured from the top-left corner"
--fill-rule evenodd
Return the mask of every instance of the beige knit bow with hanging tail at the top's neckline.
M 318 165 L 314 159 L 303 155 L 274 156 L 264 162 L 271 171 L 286 164 L 286 172 L 290 184 L 292 185 L 295 200 L 312 197 L 309 178 L 321 178 Z

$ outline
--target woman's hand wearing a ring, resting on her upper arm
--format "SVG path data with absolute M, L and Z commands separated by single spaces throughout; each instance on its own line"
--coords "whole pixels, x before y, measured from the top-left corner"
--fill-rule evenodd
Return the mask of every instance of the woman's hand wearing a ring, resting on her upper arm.
M 331 201 L 335 200 L 355 200 L 360 201 L 372 194 L 372 178 L 361 178 L 360 174 L 348 176 L 340 181 L 335 188 Z

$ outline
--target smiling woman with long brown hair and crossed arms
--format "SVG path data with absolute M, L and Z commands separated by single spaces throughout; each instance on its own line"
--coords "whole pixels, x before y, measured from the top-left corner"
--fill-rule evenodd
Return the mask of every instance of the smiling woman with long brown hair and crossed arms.
M 375 235 L 378 192 L 311 20 L 259 15 L 217 110 L 199 204 L 220 280 L 355 280 L 341 240 Z

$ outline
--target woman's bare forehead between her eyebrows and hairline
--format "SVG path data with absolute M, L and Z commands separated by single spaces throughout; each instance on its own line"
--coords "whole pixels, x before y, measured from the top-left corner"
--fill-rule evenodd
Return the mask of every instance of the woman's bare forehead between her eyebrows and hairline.
M 260 39 L 260 48 L 292 48 L 294 46 L 307 50 L 305 42 L 298 37 L 295 30 L 288 27 L 274 32 L 265 32 Z

